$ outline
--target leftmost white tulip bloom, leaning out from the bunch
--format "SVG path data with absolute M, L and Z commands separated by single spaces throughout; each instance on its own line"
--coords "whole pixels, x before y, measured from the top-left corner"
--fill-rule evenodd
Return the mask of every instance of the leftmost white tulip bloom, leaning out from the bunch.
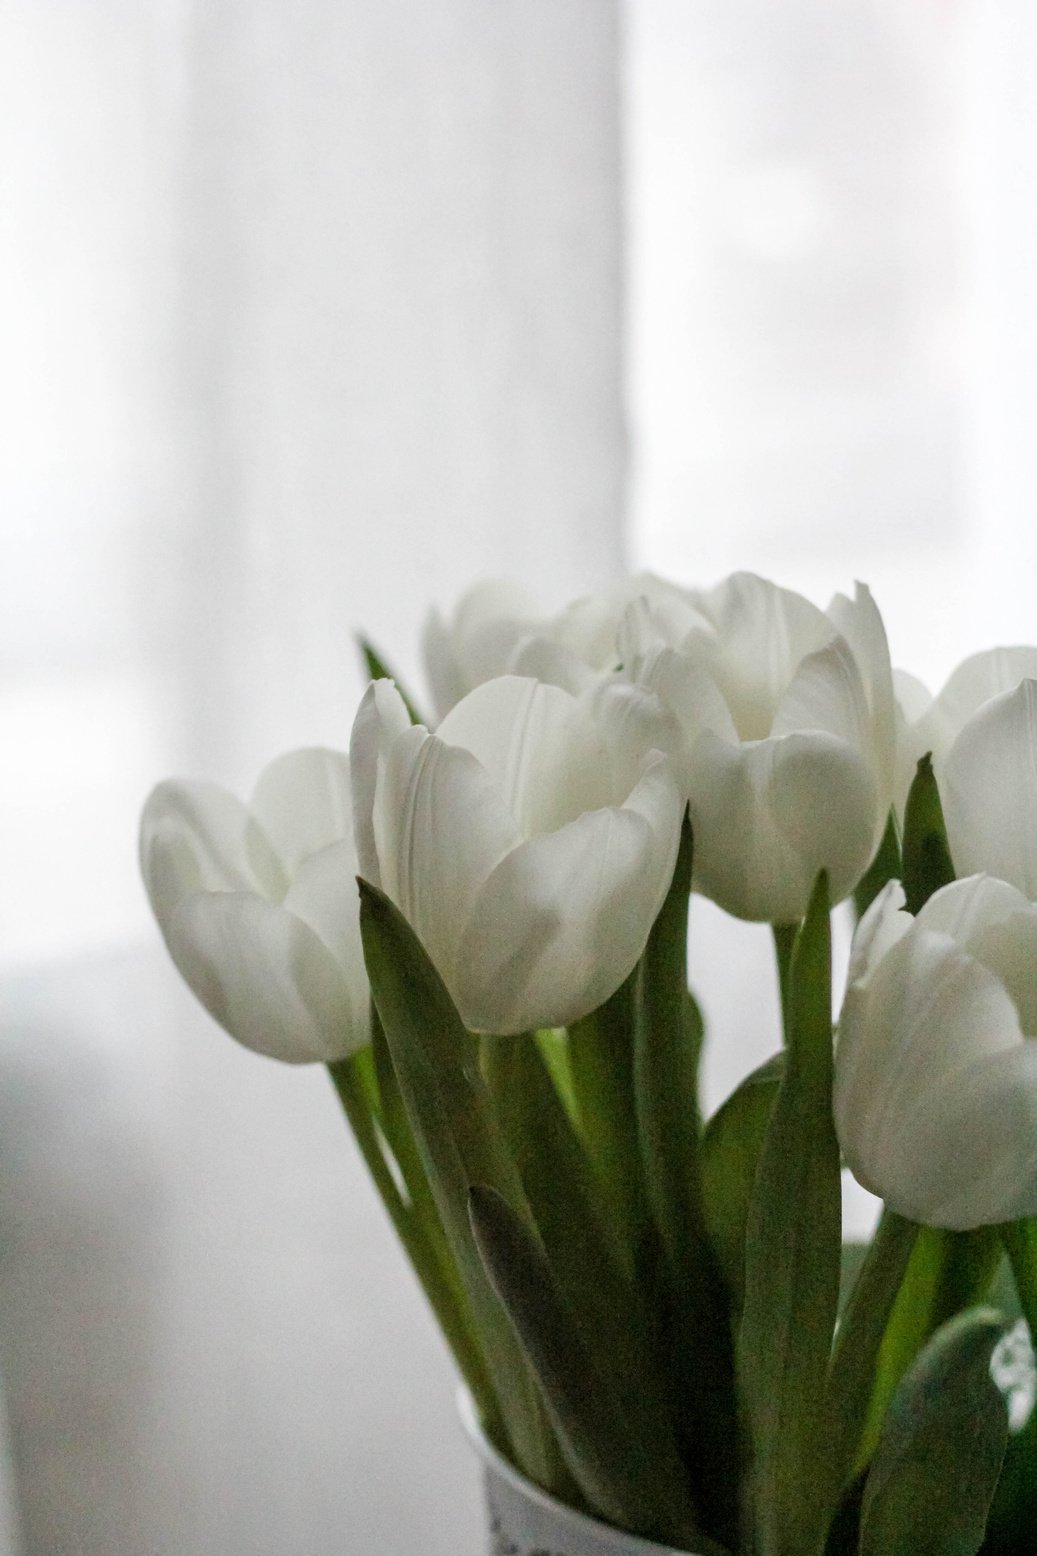
M 367 1041 L 344 755 L 280 756 L 248 806 L 216 784 L 159 784 L 140 864 L 176 966 L 230 1036 L 290 1063 Z

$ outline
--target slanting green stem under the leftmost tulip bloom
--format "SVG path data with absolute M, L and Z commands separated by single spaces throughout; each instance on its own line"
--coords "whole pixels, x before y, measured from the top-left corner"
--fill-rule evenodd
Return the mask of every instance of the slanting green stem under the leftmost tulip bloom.
M 329 1064 L 332 1085 L 353 1131 L 360 1155 L 385 1204 L 389 1220 L 411 1262 L 414 1274 L 436 1315 L 436 1321 L 458 1363 L 461 1377 L 475 1400 L 480 1418 L 490 1436 L 500 1435 L 500 1410 L 489 1374 L 478 1347 L 472 1341 L 467 1318 L 461 1309 L 456 1285 L 444 1273 L 436 1249 L 424 1226 L 403 1200 L 385 1158 L 371 1091 L 361 1074 L 361 1055 Z

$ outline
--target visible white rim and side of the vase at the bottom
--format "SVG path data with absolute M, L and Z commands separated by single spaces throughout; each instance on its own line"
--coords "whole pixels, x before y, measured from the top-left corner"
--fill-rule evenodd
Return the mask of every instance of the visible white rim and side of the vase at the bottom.
M 520 1475 L 483 1433 L 467 1393 L 458 1410 L 483 1463 L 486 1492 L 486 1556 L 694 1556 L 671 1545 L 624 1534 L 567 1508 Z

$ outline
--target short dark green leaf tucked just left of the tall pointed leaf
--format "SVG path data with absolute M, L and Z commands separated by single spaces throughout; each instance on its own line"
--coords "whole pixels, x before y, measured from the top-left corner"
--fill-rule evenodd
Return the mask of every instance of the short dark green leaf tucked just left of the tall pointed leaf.
M 741 1081 L 702 1133 L 702 1211 L 735 1319 L 741 1316 L 746 1290 L 749 1203 L 783 1072 L 785 1053 L 772 1053 Z

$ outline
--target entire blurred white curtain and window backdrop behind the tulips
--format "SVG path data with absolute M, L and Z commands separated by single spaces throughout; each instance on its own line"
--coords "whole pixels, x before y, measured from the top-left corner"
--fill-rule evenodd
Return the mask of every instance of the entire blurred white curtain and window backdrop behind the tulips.
M 142 798 L 344 745 L 350 633 L 416 677 L 425 607 L 481 573 L 861 577 L 933 686 L 1034 641 L 1035 104 L 1023 0 L 6 0 L 0 1360 L 33 1556 L 476 1550 L 327 1083 L 176 983 Z M 693 955 L 719 1095 L 774 1044 L 766 932 L 704 909 Z

